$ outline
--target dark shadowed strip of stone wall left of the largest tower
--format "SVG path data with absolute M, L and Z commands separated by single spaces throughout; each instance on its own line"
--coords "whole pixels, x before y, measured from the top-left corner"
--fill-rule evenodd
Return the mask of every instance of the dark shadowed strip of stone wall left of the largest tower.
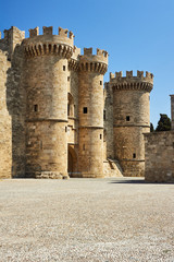
M 12 177 L 25 176 L 25 116 L 24 52 L 16 46 L 8 71 L 7 104 L 12 117 Z

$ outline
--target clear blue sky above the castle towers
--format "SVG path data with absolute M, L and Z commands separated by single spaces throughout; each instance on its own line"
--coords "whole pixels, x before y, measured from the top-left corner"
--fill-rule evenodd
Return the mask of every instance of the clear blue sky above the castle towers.
M 12 25 L 26 32 L 39 26 L 69 28 L 75 45 L 105 49 L 109 72 L 133 70 L 154 74 L 151 122 L 171 117 L 174 94 L 174 0 L 8 0 L 0 1 L 0 31 Z

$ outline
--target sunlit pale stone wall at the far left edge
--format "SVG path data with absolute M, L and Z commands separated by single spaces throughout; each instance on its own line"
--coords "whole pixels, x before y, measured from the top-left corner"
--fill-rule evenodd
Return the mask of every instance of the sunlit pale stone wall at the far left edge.
M 0 50 L 0 178 L 10 178 L 12 168 L 12 118 L 7 107 L 7 72 L 11 63 Z

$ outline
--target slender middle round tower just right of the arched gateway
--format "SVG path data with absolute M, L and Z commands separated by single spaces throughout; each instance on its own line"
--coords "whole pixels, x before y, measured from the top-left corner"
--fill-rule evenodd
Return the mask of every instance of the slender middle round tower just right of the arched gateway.
M 108 52 L 84 48 L 79 57 L 79 148 L 78 171 L 82 177 L 103 176 L 103 75 Z

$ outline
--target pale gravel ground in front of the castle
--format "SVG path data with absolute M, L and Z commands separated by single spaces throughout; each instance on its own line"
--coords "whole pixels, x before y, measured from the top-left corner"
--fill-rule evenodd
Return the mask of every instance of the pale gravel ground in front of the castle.
M 0 180 L 0 262 L 174 262 L 174 184 Z

